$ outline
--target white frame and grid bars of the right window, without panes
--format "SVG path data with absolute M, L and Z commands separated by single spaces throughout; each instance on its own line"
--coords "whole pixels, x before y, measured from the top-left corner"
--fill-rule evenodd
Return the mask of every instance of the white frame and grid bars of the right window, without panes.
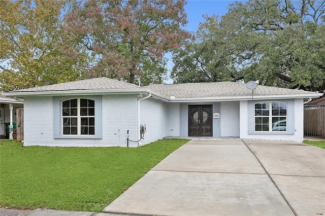
M 264 109 L 263 108 L 263 104 L 264 103 L 268 103 L 268 108 Z M 284 103 L 285 104 L 285 109 L 280 109 L 280 107 L 278 108 L 273 108 L 273 103 Z M 261 106 L 261 109 L 256 109 L 256 104 L 262 104 Z M 256 115 L 256 110 L 261 110 L 261 115 Z M 274 110 L 279 110 L 279 115 L 274 115 L 273 114 L 273 111 Z M 285 115 L 280 115 L 280 110 L 285 110 Z M 268 113 L 268 115 L 264 115 L 264 111 L 266 111 Z M 267 100 L 267 101 L 261 101 L 261 102 L 256 102 L 254 103 L 254 131 L 255 132 L 287 132 L 287 117 L 288 115 L 288 103 L 287 102 L 283 102 L 283 101 L 276 101 L 276 100 Z M 257 118 L 260 118 L 261 119 L 261 123 L 256 123 L 256 119 Z M 268 123 L 267 124 L 263 124 L 264 122 L 264 119 L 268 119 Z M 285 118 L 285 127 L 286 129 L 285 130 L 273 130 L 273 127 L 274 127 L 274 123 L 273 123 L 273 119 L 274 118 L 278 118 L 279 121 L 282 121 L 280 120 L 280 118 Z M 256 130 L 256 125 L 261 125 L 261 130 Z M 269 130 L 263 130 L 264 129 L 264 126 L 265 125 L 268 125 L 268 129 Z

